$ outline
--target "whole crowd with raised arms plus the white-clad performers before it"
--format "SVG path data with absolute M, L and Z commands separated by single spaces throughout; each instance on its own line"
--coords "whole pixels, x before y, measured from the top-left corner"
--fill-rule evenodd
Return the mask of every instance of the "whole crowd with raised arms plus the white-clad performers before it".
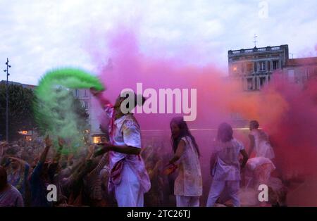
M 183 118 L 170 121 L 172 154 L 162 155 L 154 146 L 141 148 L 139 124 L 121 108 L 129 96 L 118 96 L 111 105 L 100 92 L 92 89 L 92 94 L 108 116 L 108 141 L 76 154 L 62 154 L 66 141 L 58 138 L 53 144 L 49 136 L 1 142 L 0 206 L 201 206 L 199 146 Z M 142 105 L 136 100 L 134 106 L 125 102 L 125 107 Z M 242 179 L 252 188 L 268 184 L 275 170 L 273 148 L 259 122 L 251 121 L 250 131 L 248 154 L 233 137 L 232 127 L 225 122 L 219 125 L 211 145 L 213 180 L 206 206 L 226 205 L 226 201 L 241 206 Z M 249 158 L 252 151 L 256 157 Z M 52 185 L 56 198 L 50 201 Z M 268 203 L 285 206 L 285 191 L 269 190 Z

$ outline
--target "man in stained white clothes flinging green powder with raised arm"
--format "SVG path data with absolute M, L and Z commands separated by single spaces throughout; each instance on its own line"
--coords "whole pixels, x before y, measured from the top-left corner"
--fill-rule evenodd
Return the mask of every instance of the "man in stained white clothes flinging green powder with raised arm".
M 99 99 L 108 118 L 110 119 L 108 133 L 109 142 L 103 144 L 102 153 L 109 153 L 109 168 L 111 170 L 108 191 L 113 192 L 119 207 L 142 207 L 144 206 L 144 194 L 149 191 L 151 183 L 139 155 L 141 151 L 141 131 L 139 124 L 132 115 L 131 110 L 137 106 L 136 94 L 118 96 L 112 106 L 100 93 L 92 89 L 94 96 Z M 132 97 L 131 97 L 132 96 Z M 126 102 L 126 99 L 132 99 Z M 121 104 L 125 101 L 128 113 L 123 113 Z M 144 99 L 142 99 L 142 105 Z

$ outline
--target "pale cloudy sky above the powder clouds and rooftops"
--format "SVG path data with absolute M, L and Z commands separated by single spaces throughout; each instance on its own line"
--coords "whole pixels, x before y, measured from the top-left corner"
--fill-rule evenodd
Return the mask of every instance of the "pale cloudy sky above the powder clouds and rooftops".
M 226 68 L 228 50 L 253 47 L 254 34 L 257 46 L 288 44 L 291 57 L 317 56 L 316 11 L 316 0 L 0 0 L 0 68 L 8 57 L 10 80 L 25 84 L 58 66 L 94 72 L 87 45 L 102 44 L 118 23 L 137 27 L 145 54 L 188 63 Z

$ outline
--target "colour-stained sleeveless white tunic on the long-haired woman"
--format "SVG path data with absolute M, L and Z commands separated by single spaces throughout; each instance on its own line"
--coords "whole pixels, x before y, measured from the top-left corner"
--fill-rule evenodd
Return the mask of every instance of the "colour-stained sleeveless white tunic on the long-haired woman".
M 178 165 L 178 177 L 174 183 L 174 194 L 176 196 L 201 196 L 202 179 L 199 157 L 192 139 L 182 137 L 185 141 L 185 151 Z

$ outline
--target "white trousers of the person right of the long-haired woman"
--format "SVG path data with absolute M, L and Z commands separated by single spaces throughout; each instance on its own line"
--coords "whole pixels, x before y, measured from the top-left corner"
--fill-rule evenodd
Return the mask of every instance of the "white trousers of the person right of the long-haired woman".
M 233 206 L 240 206 L 238 192 L 240 189 L 240 180 L 218 181 L 213 180 L 211 183 L 209 196 L 206 206 L 214 206 L 223 189 L 228 191 L 228 195 L 232 199 Z

